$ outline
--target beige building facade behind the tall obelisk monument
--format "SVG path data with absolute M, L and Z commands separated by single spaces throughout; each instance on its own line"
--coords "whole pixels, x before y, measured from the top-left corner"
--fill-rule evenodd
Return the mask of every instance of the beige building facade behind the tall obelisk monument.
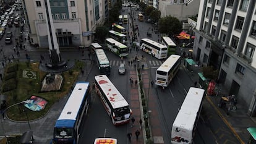
M 105 20 L 103 0 L 49 0 L 59 47 L 90 46 L 93 32 Z M 23 0 L 30 42 L 48 47 L 45 0 Z

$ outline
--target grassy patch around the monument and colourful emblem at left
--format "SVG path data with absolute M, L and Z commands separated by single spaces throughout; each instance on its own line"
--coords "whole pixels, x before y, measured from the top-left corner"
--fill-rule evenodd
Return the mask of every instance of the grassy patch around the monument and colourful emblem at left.
M 32 95 L 40 96 L 48 101 L 45 109 L 42 111 L 30 111 L 23 104 L 13 106 L 7 110 L 7 116 L 15 121 L 27 121 L 38 119 L 44 116 L 51 106 L 59 101 L 63 96 L 65 96 L 70 87 L 77 80 L 80 73 L 80 67 L 85 66 L 84 62 L 76 61 L 75 67 L 72 69 L 72 74 L 69 71 L 62 72 L 62 77 L 64 77 L 64 82 L 62 83 L 62 88 L 59 91 L 51 92 L 40 92 L 41 82 L 47 73 L 38 69 L 39 63 L 31 63 L 27 65 L 25 62 L 18 63 L 17 77 L 15 78 L 16 89 L 4 92 L 3 94 L 7 96 L 7 104 L 11 106 L 12 104 L 19 103 L 21 101 L 28 100 Z M 36 79 L 23 78 L 22 70 L 32 70 L 36 72 Z M 25 111 L 24 111 L 25 110 Z

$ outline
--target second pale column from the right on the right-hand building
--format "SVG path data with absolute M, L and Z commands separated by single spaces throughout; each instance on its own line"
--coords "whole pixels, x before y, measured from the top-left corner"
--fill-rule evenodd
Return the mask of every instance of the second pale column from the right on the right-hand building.
M 229 27 L 228 27 L 228 32 L 226 34 L 226 39 L 224 41 L 224 47 L 228 46 L 230 38 L 231 38 L 231 34 L 233 31 L 233 27 L 231 27 L 231 25 L 234 25 L 234 20 L 236 19 L 236 13 L 237 13 L 237 8 L 238 8 L 238 4 L 239 4 L 239 0 L 234 1 L 233 3 L 233 9 L 229 18 Z

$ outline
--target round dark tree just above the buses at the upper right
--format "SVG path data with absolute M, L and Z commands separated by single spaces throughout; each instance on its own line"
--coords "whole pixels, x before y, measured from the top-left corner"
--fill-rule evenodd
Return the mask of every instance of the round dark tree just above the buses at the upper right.
M 159 32 L 167 35 L 177 35 L 182 31 L 182 23 L 176 17 L 164 17 L 159 21 Z

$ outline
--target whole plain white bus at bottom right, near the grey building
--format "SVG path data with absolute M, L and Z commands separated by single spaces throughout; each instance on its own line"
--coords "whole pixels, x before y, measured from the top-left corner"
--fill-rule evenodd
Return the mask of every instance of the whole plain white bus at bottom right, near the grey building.
M 171 143 L 192 143 L 197 127 L 197 121 L 202 109 L 205 90 L 190 87 L 181 109 L 173 122 Z

